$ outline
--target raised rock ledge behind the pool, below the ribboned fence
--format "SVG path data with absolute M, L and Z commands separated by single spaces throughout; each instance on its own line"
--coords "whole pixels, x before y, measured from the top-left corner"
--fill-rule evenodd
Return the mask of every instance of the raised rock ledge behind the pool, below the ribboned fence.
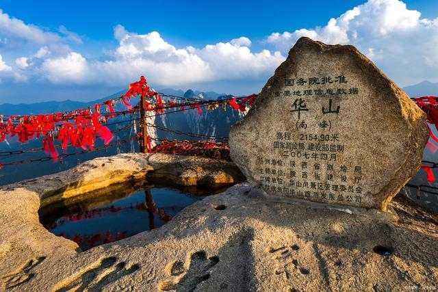
M 37 194 L 42 207 L 125 181 L 220 187 L 244 180 L 234 163 L 205 157 L 125 153 L 100 157 L 57 174 L 0 187 L 0 194 Z

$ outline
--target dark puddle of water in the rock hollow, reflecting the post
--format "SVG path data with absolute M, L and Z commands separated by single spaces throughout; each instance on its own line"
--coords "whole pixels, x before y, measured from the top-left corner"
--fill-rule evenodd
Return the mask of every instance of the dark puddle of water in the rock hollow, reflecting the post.
M 163 187 L 116 190 L 68 205 L 65 202 L 52 205 L 38 213 L 40 222 L 51 233 L 75 241 L 81 250 L 88 250 L 163 226 L 182 209 L 210 194 Z

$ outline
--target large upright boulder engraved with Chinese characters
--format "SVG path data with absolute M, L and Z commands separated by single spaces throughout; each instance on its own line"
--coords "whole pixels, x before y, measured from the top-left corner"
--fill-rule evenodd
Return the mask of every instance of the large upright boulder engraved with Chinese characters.
M 229 144 L 270 195 L 385 209 L 427 139 L 422 111 L 354 47 L 300 38 Z

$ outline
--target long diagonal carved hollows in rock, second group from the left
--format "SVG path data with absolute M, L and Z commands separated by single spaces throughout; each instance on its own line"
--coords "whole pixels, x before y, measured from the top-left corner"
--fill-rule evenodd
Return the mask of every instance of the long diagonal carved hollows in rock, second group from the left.
M 84 271 L 57 291 L 101 291 L 107 284 L 140 269 L 137 264 L 127 268 L 125 262 L 114 265 L 116 261 L 115 256 L 103 258 L 97 267 Z

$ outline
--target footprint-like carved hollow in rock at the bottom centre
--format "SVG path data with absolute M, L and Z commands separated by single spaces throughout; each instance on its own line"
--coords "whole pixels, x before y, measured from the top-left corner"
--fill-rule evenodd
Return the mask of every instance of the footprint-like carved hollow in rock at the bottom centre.
M 168 274 L 178 277 L 161 282 L 158 288 L 164 291 L 194 291 L 198 284 L 210 278 L 211 268 L 217 263 L 219 263 L 218 256 L 207 258 L 207 254 L 203 251 L 194 252 L 185 266 L 181 261 L 173 263 Z

